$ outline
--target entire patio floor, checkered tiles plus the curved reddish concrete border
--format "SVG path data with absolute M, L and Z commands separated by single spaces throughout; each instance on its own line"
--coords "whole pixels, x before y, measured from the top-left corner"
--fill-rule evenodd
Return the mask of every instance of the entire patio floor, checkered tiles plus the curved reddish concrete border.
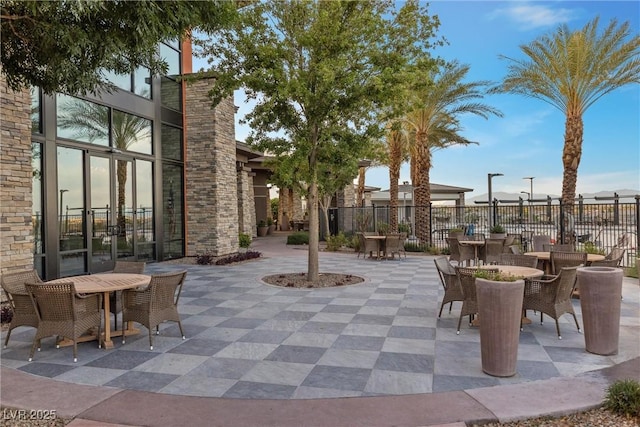
M 306 250 L 285 239 L 256 239 L 264 259 L 235 266 L 148 266 L 189 270 L 186 341 L 167 324 L 153 351 L 141 328 L 108 352 L 82 344 L 77 364 L 45 342 L 27 362 L 33 330 L 16 329 L 2 352 L 2 405 L 55 409 L 74 426 L 463 426 L 590 409 L 615 379 L 640 378 L 637 281 L 625 282 L 617 356 L 586 353 L 570 317 L 561 341 L 552 321 L 534 320 L 521 334 L 518 374 L 496 379 L 481 371 L 477 329 L 455 334 L 459 306 L 436 320 L 432 257 L 321 253 L 321 271 L 365 283 L 267 286 L 259 278 L 269 272 L 306 269 Z M 576 310 L 581 322 L 579 302 Z

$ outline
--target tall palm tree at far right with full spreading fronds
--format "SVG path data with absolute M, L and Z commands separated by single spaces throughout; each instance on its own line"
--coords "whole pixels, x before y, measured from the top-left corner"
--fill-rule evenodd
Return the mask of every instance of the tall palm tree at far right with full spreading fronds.
M 565 116 L 562 164 L 562 203 L 573 210 L 578 165 L 582 155 L 584 112 L 605 94 L 640 82 L 640 36 L 629 41 L 629 22 L 618 27 L 613 19 L 598 33 L 596 17 L 584 28 L 566 25 L 555 33 L 520 46 L 526 59 L 510 61 L 503 82 L 495 92 L 511 92 L 553 105 Z

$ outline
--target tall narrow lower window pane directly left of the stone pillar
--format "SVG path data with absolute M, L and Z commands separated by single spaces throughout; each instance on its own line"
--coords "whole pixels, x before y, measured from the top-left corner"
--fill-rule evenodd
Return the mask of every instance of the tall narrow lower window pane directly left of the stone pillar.
M 164 259 L 184 256 L 184 221 L 182 213 L 182 167 L 162 165 L 162 222 Z

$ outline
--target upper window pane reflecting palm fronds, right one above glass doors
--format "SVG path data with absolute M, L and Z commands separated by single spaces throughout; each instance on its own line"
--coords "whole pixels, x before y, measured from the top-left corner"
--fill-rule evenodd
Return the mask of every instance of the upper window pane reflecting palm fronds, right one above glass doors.
M 112 137 L 114 148 L 151 154 L 151 120 L 114 110 Z

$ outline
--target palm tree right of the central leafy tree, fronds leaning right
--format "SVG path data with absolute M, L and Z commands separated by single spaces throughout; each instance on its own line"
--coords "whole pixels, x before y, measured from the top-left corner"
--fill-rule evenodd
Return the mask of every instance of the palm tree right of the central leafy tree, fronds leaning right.
M 499 110 L 477 101 L 482 98 L 481 87 L 487 82 L 463 82 L 468 71 L 468 65 L 455 61 L 446 64 L 432 82 L 417 85 L 410 94 L 410 112 L 403 118 L 406 129 L 413 136 L 411 161 L 415 232 L 422 242 L 428 242 L 431 236 L 429 174 L 433 151 L 472 143 L 460 135 L 462 128 L 458 117 L 461 114 L 475 114 L 485 119 L 492 114 L 502 116 Z

